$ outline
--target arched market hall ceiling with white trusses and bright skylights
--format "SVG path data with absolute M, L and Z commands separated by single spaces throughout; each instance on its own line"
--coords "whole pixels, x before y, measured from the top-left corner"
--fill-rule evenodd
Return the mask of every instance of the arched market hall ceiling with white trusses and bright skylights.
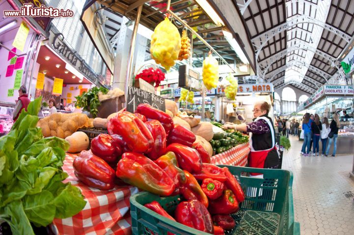
M 354 35 L 354 0 L 234 0 L 257 56 L 257 74 L 275 88 L 313 93 L 343 76 L 340 56 Z

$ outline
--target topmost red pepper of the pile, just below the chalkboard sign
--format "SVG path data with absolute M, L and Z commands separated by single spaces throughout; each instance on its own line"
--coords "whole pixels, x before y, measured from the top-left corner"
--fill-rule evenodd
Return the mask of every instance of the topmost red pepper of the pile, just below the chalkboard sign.
M 138 105 L 137 109 L 135 110 L 135 113 L 144 115 L 146 118 L 148 118 L 148 121 L 151 119 L 160 121 L 163 127 L 165 128 L 166 136 L 169 134 L 170 130 L 174 127 L 173 119 L 170 117 L 170 115 L 152 107 L 149 104 Z

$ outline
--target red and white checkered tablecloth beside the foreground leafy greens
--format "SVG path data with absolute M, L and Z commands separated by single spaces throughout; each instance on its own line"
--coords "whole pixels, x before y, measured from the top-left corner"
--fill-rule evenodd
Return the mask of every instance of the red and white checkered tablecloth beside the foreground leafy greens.
M 138 193 L 133 186 L 118 187 L 102 191 L 90 188 L 78 181 L 74 175 L 72 163 L 75 155 L 67 154 L 63 170 L 69 175 L 64 182 L 77 186 L 87 201 L 85 208 L 70 218 L 55 219 L 52 230 L 55 234 L 68 235 L 130 235 L 131 195 Z

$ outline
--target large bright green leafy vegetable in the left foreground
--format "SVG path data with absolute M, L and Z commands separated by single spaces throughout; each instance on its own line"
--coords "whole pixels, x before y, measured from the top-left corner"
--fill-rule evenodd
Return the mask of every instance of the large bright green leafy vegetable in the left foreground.
M 61 166 L 69 144 L 57 137 L 43 139 L 36 127 L 40 106 L 41 98 L 29 103 L 0 138 L 0 221 L 13 234 L 33 235 L 30 223 L 47 226 L 86 205 L 78 188 L 61 182 L 68 176 Z

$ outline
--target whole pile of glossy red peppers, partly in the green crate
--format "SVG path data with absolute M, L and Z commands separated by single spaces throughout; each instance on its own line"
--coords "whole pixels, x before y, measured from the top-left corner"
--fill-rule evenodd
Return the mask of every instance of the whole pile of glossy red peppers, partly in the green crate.
M 110 135 L 95 137 L 90 151 L 74 160 L 79 180 L 102 190 L 113 189 L 121 180 L 160 196 L 181 195 L 174 215 L 155 201 L 146 206 L 210 234 L 235 227 L 230 214 L 244 200 L 242 188 L 228 168 L 210 164 L 191 131 L 148 104 L 140 104 L 135 114 L 119 112 L 107 127 Z

